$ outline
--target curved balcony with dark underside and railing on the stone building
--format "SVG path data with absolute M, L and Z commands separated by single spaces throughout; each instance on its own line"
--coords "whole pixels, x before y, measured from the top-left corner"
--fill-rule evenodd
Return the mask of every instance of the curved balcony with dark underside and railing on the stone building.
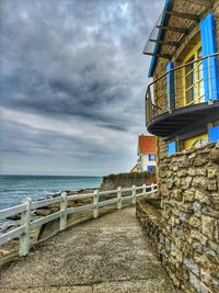
M 175 67 L 148 86 L 149 133 L 171 138 L 219 120 L 219 53 Z

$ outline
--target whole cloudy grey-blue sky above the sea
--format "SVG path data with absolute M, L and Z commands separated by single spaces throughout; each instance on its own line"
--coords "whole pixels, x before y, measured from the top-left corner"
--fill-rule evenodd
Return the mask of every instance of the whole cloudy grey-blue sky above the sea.
M 163 2 L 1 0 L 0 173 L 131 169 Z

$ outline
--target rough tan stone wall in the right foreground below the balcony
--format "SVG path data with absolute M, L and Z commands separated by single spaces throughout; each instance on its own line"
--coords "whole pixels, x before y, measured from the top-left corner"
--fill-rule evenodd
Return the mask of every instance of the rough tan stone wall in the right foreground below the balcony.
M 162 263 L 183 292 L 219 292 L 219 144 L 163 156 L 159 169 L 161 218 L 145 221 Z

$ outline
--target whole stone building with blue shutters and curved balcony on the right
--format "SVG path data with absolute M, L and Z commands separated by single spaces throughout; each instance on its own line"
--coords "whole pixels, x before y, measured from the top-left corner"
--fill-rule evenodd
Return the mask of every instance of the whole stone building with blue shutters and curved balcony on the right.
M 161 203 L 137 217 L 183 292 L 219 292 L 218 48 L 219 0 L 166 0 L 143 50 Z

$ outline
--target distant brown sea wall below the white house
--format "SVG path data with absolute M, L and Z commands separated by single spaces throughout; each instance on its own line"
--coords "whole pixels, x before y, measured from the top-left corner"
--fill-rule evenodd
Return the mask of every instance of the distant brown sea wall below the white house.
M 151 184 L 157 182 L 157 176 L 152 172 L 119 173 L 103 177 L 101 190 L 114 190 L 117 187 L 129 188 L 131 185 Z

